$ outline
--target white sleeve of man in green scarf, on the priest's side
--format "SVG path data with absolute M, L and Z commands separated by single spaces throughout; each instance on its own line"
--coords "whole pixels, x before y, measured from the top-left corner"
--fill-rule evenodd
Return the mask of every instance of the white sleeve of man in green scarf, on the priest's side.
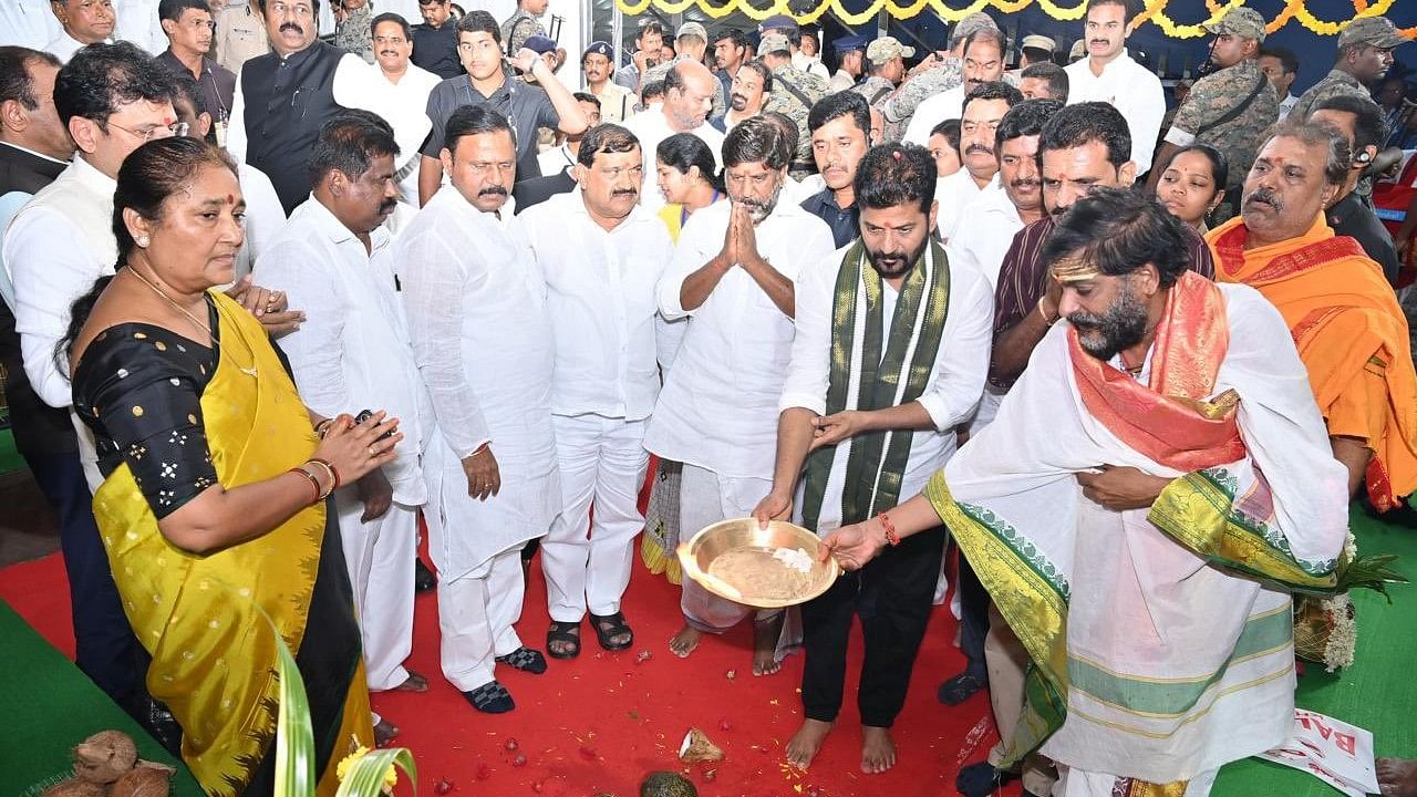
M 952 268 L 949 311 L 935 356 L 935 379 L 920 404 L 947 431 L 964 423 L 983 394 L 993 339 L 993 291 L 973 268 Z

